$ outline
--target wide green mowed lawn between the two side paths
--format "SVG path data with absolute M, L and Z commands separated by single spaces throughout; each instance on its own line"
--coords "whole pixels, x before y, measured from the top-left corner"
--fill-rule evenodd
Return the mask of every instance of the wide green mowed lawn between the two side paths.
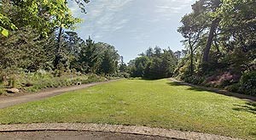
M 1 124 L 84 122 L 256 138 L 255 103 L 159 81 L 121 80 L 0 109 Z

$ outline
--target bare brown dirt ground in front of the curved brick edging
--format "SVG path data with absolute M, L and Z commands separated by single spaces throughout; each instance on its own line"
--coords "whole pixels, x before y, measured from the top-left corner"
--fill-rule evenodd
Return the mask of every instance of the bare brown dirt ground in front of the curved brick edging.
M 4 140 L 171 140 L 169 137 L 156 137 L 113 132 L 6 132 L 0 133 Z

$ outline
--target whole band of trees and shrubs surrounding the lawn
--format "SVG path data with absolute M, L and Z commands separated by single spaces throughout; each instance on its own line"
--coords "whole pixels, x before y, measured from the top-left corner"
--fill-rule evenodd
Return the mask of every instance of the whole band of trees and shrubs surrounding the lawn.
M 75 2 L 86 14 L 89 1 Z M 185 49 L 148 48 L 128 64 L 112 45 L 79 37 L 72 31 L 79 22 L 64 0 L 0 1 L 0 88 L 33 85 L 31 75 L 38 79 L 96 74 L 145 79 L 174 76 L 193 84 L 256 94 L 254 0 L 196 1 L 177 28 Z

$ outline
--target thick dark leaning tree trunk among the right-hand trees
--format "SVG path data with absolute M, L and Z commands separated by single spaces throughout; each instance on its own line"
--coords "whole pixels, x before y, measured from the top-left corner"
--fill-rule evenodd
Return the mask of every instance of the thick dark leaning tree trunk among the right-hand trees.
M 213 20 L 211 25 L 211 30 L 207 39 L 207 46 L 204 49 L 202 63 L 207 63 L 209 61 L 209 53 L 212 46 L 214 31 L 216 31 L 217 26 L 218 26 L 218 20 Z

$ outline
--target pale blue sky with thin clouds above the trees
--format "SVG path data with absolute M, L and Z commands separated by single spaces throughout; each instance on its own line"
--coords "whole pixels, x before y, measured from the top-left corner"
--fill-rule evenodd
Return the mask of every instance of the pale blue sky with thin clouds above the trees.
M 183 49 L 177 27 L 195 0 L 91 0 L 87 14 L 74 1 L 73 14 L 84 20 L 77 25 L 79 36 L 113 45 L 125 62 L 135 59 L 148 47 Z

